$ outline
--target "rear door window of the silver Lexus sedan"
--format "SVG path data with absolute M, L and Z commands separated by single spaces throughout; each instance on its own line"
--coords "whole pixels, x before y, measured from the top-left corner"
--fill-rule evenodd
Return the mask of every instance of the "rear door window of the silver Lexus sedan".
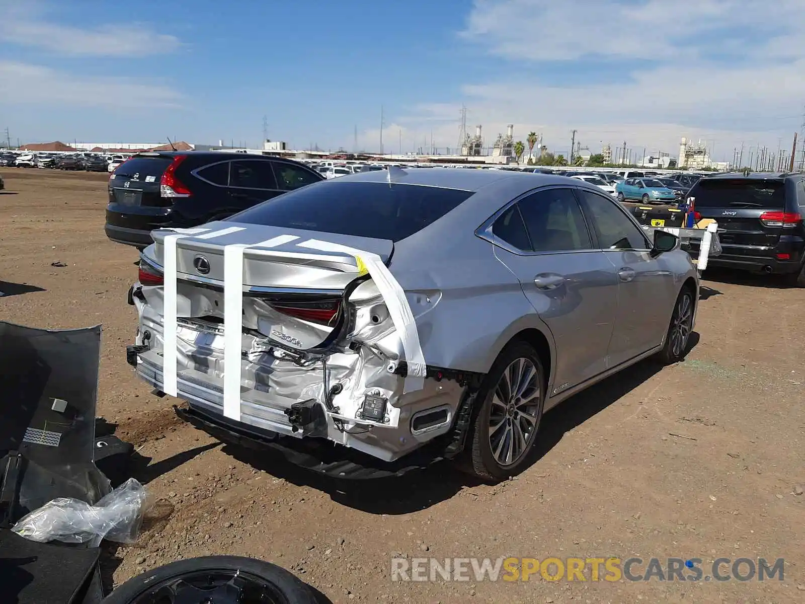
M 518 202 L 534 251 L 589 250 L 592 242 L 576 196 L 569 188 L 549 188 Z

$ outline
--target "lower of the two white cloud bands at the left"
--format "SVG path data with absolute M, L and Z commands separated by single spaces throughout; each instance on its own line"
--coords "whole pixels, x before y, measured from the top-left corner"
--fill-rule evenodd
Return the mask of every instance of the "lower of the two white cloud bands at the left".
M 0 103 L 85 107 L 175 107 L 182 96 L 165 85 L 119 77 L 84 77 L 41 65 L 0 60 Z

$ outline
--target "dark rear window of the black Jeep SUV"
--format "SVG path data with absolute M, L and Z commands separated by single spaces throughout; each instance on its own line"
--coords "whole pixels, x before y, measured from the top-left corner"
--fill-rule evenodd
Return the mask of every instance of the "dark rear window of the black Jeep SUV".
M 783 209 L 786 188 L 782 180 L 700 180 L 690 193 L 696 208 Z

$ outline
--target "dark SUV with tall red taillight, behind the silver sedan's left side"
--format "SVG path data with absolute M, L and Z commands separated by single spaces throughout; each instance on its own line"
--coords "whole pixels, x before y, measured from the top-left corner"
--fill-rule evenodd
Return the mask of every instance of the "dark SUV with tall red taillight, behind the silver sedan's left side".
M 106 236 L 140 249 L 151 231 L 221 220 L 324 180 L 302 163 L 221 151 L 139 153 L 109 176 Z

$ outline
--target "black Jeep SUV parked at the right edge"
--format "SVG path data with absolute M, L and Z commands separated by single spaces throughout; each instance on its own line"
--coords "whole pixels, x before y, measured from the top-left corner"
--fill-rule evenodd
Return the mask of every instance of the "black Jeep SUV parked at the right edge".
M 708 176 L 688 195 L 696 213 L 718 222 L 723 253 L 710 266 L 791 275 L 805 287 L 805 174 Z

